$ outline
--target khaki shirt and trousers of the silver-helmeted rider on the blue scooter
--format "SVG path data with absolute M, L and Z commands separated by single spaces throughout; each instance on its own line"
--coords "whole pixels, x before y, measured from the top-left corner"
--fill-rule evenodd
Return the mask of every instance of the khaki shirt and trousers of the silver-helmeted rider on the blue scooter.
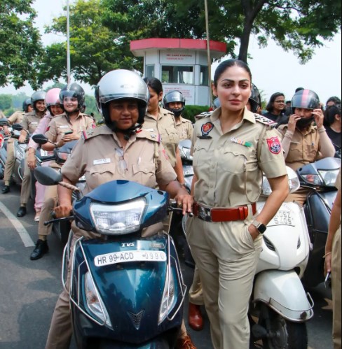
M 87 131 L 84 138 L 78 141 L 61 169 L 71 183 L 76 183 L 83 174 L 86 176 L 84 194 L 109 180 L 134 180 L 146 187 L 167 185 L 176 180 L 176 173 L 165 156 L 158 134 L 144 130 L 132 134 L 124 149 L 116 134 L 105 125 Z M 80 236 L 99 237 L 77 228 L 74 223 L 71 227 L 73 241 Z M 63 290 L 55 306 L 46 349 L 68 348 L 71 334 L 69 294 Z

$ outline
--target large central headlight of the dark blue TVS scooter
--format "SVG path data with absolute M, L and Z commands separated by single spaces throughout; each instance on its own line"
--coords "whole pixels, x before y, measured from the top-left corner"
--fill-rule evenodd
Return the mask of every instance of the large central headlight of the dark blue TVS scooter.
M 144 199 L 120 205 L 90 204 L 90 214 L 97 232 L 106 235 L 122 235 L 140 229 L 146 202 Z

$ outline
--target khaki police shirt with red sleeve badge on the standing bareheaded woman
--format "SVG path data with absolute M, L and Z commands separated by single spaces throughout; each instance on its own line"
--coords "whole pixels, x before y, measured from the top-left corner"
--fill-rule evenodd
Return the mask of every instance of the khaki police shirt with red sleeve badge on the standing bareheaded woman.
M 261 193 L 263 171 L 268 178 L 287 174 L 278 133 L 245 108 L 242 121 L 222 134 L 220 115 L 217 108 L 193 130 L 194 197 L 210 207 L 252 204 Z

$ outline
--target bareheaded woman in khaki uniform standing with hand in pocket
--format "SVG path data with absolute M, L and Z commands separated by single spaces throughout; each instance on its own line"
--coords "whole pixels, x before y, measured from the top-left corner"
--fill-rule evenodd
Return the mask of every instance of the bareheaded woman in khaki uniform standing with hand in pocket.
M 212 90 L 221 108 L 193 131 L 193 218 L 187 234 L 210 319 L 215 349 L 249 348 L 248 302 L 261 234 L 288 193 L 282 148 L 271 120 L 247 111 L 252 76 L 228 59 Z M 262 173 L 272 193 L 256 212 Z

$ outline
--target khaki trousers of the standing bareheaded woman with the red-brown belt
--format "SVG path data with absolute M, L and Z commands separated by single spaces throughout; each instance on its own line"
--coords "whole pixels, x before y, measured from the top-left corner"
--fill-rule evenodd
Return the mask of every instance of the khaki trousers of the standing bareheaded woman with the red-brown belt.
M 261 250 L 249 221 L 205 222 L 189 218 L 186 235 L 200 280 L 214 349 L 248 349 L 249 297 Z

